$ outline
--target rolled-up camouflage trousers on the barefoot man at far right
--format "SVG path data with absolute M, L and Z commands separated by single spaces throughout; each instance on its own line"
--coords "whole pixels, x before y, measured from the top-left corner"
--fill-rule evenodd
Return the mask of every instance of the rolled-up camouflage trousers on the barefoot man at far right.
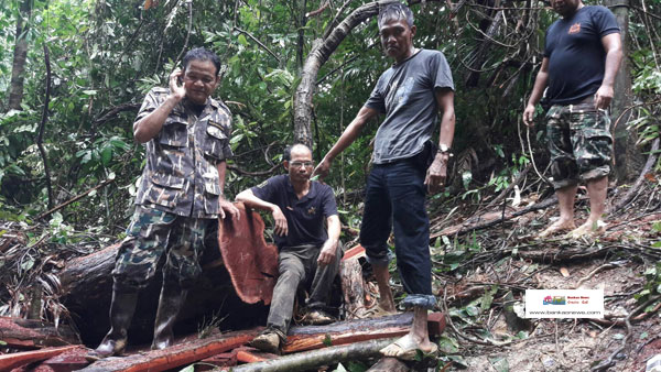
M 608 175 L 613 147 L 609 128 L 608 114 L 595 109 L 593 102 L 551 107 L 546 136 L 555 189 Z

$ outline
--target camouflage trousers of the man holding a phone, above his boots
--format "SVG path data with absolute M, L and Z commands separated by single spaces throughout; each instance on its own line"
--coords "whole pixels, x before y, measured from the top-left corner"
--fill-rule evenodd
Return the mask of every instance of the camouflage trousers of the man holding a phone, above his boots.
M 166 253 L 163 276 L 189 287 L 202 273 L 198 258 L 213 219 L 189 218 L 137 206 L 115 261 L 112 277 L 119 291 L 147 287 Z

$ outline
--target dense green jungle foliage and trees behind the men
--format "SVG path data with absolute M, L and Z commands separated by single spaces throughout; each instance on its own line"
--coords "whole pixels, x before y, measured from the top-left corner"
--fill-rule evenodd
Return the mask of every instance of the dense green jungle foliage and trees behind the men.
M 318 161 L 336 141 L 391 64 L 375 15 L 392 1 L 0 0 L 0 238 L 6 236 L 0 316 L 57 322 L 66 308 L 57 302 L 53 273 L 68 258 L 123 237 L 144 152 L 133 142 L 131 124 L 147 91 L 166 86 L 185 51 L 205 46 L 223 62 L 214 96 L 232 111 L 236 156 L 228 163 L 226 197 L 234 199 L 282 172 L 286 144 L 312 144 Z M 651 160 L 638 199 L 618 206 L 638 200 L 647 206 L 633 209 L 655 210 L 659 203 L 650 203 L 658 200 L 661 186 L 655 156 L 661 1 L 585 3 L 609 7 L 625 40 L 611 110 L 616 144 L 609 197 L 621 196 Z M 408 4 L 418 26 L 414 45 L 442 51 L 456 87 L 451 182 L 429 204 L 432 247 L 440 250 L 435 278 L 443 286 L 479 264 L 500 262 L 505 249 L 512 253 L 510 238 L 523 234 L 505 226 L 496 232 L 448 228 L 494 206 L 498 215 L 501 204 L 505 221 L 506 204 L 530 206 L 553 194 L 543 109 L 533 129 L 525 128 L 521 113 L 541 65 L 544 32 L 557 15 L 539 0 Z M 354 241 L 360 227 L 378 125 L 370 123 L 326 179 L 336 192 L 346 241 Z M 533 222 L 532 229 L 543 226 Z M 652 225 L 643 248 L 658 248 L 660 230 L 661 223 Z M 491 248 L 499 253 L 487 256 Z M 659 253 L 637 254 L 640 289 L 629 297 L 639 296 L 636 300 L 651 310 L 661 294 Z M 41 283 L 39 308 L 31 300 L 34 283 Z M 485 283 L 477 306 L 455 304 L 455 320 L 474 327 L 494 298 L 513 291 Z M 456 339 L 446 338 L 444 350 L 456 353 Z M 457 358 L 456 365 L 466 363 Z

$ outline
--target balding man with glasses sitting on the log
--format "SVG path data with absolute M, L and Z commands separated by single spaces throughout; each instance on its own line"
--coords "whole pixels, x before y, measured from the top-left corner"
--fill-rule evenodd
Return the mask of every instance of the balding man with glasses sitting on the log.
M 267 329 L 252 341 L 253 347 L 269 352 L 279 352 L 286 340 L 296 288 L 301 283 L 312 278 L 306 304 L 311 310 L 307 314 L 310 322 L 333 321 L 323 308 L 343 254 L 333 189 L 310 179 L 314 167 L 312 151 L 304 144 L 289 146 L 284 151 L 283 165 L 289 174 L 271 177 L 236 198 L 248 207 L 271 211 L 275 222 L 280 276 L 273 289 Z M 327 229 L 324 229 L 324 218 Z

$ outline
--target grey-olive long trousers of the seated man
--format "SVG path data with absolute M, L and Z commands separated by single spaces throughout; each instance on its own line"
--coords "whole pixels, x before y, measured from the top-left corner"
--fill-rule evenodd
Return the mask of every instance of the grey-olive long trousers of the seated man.
M 335 261 L 328 265 L 317 267 L 317 258 L 321 252 L 319 245 L 284 247 L 280 250 L 278 258 L 278 282 L 273 288 L 273 299 L 267 327 L 279 330 L 282 338 L 286 335 L 294 310 L 296 289 L 301 284 L 310 285 L 308 308 L 323 308 L 328 300 L 328 294 L 333 286 L 333 280 L 339 271 L 342 259 L 340 244 L 337 244 Z

